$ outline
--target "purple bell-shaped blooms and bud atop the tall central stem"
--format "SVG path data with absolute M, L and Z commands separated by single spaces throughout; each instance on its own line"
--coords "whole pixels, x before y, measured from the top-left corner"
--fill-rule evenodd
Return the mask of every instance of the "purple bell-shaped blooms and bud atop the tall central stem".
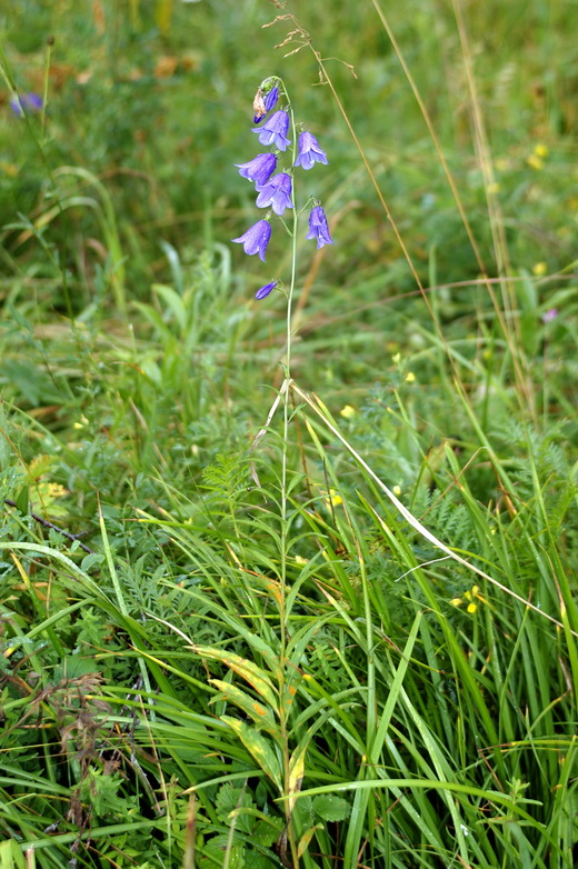
M 286 209 L 295 208 L 291 198 L 295 169 L 301 167 L 309 170 L 313 168 L 316 162 L 327 166 L 328 160 L 316 137 L 305 130 L 299 133 L 297 158 L 293 166 L 288 171 L 275 173 L 280 153 L 285 152 L 291 144 L 287 138 L 290 123 L 288 111 L 281 109 L 270 114 L 278 99 L 279 88 L 273 86 L 265 93 L 259 88 L 253 102 L 253 122 L 260 124 L 263 119 L 267 118 L 267 120 L 262 127 L 255 127 L 252 131 L 258 134 L 260 144 L 266 147 L 273 146 L 276 150 L 273 152 L 259 153 L 247 163 L 236 163 L 236 166 L 240 176 L 255 183 L 258 194 L 257 207 L 272 209 L 278 217 L 281 217 Z M 263 220 L 258 220 L 257 223 L 253 223 L 242 236 L 232 239 L 238 244 L 242 244 L 245 252 L 249 256 L 258 253 L 263 262 L 267 246 L 271 238 L 269 219 L 270 213 Z M 325 244 L 333 243 L 329 234 L 326 213 L 319 203 L 315 204 L 309 213 L 309 231 L 306 238 L 316 239 L 318 249 Z M 256 299 L 267 298 L 277 283 L 278 281 L 266 283 L 265 287 L 257 291 Z

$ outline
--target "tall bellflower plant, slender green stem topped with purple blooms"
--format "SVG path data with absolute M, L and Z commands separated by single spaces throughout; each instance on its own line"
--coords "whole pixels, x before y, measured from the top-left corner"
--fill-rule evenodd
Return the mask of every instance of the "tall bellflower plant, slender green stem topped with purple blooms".
M 277 108 L 280 99 L 281 108 Z M 271 110 L 276 111 L 271 114 Z M 287 552 L 288 552 L 288 509 L 289 509 L 289 487 L 288 487 L 288 445 L 289 445 L 289 420 L 290 420 L 290 389 L 291 389 L 291 349 L 292 349 L 292 302 L 297 288 L 297 240 L 299 238 L 299 223 L 302 212 L 310 208 L 309 231 L 307 239 L 316 239 L 317 248 L 325 244 L 332 244 L 333 241 L 329 233 L 325 211 L 317 200 L 308 200 L 299 208 L 298 184 L 296 176 L 300 170 L 308 171 L 315 163 L 328 163 L 327 154 L 320 148 L 316 137 L 309 131 L 299 128 L 295 118 L 293 107 L 283 81 L 278 77 L 271 77 L 261 82 L 255 101 L 253 122 L 259 124 L 253 128 L 253 132 L 259 137 L 261 147 L 273 148 L 272 152 L 260 153 L 252 160 L 245 163 L 237 163 L 239 173 L 255 183 L 257 196 L 256 206 L 258 208 L 270 209 L 263 219 L 257 221 L 246 232 L 233 239 L 236 243 L 243 246 L 245 252 L 249 256 L 258 253 L 260 259 L 266 261 L 266 251 L 272 234 L 271 222 L 279 220 L 285 230 L 291 238 L 291 272 L 288 286 L 285 286 L 279 279 L 269 281 L 260 287 L 256 292 L 256 299 L 268 298 L 275 289 L 280 289 L 287 298 L 286 309 L 286 351 L 283 367 L 283 382 L 279 397 L 273 407 L 277 407 L 279 400 L 283 406 L 283 434 L 282 434 L 282 460 L 281 460 L 281 547 L 280 547 L 280 583 L 279 583 L 279 645 L 280 645 L 280 673 L 279 673 L 279 719 L 280 731 L 282 735 L 282 758 L 283 758 L 283 779 L 285 779 L 285 807 L 286 807 L 286 835 L 293 865 L 297 866 L 298 848 L 295 839 L 293 826 L 291 821 L 292 807 L 295 805 L 295 793 L 297 785 L 296 769 L 299 766 L 303 749 L 298 748 L 293 755 L 290 753 L 288 736 L 288 710 L 292 702 L 291 695 L 295 693 L 295 672 L 287 668 Z M 288 136 L 291 136 L 291 139 Z M 288 150 L 290 149 L 290 150 Z M 283 166 L 287 156 L 291 157 L 291 166 Z M 279 166 L 280 164 L 280 166 Z M 277 171 L 280 169 L 280 171 Z M 283 220 L 287 210 L 292 211 L 291 228 Z M 271 213 L 271 211 L 273 213 Z M 273 217 L 275 214 L 275 217 Z M 271 414 L 272 416 L 271 411 Z M 286 841 L 286 845 L 287 845 Z

